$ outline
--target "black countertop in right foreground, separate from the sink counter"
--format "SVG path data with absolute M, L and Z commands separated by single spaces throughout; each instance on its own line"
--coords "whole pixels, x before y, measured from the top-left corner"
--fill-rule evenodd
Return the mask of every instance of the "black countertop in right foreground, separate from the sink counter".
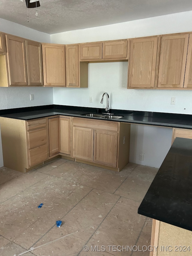
M 192 139 L 175 139 L 138 213 L 192 231 Z

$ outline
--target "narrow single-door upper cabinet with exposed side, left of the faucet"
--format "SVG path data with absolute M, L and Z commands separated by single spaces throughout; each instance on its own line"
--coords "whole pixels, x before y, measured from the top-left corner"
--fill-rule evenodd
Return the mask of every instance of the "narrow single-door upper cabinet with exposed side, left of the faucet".
M 66 45 L 67 87 L 88 87 L 88 63 L 79 61 L 79 44 Z

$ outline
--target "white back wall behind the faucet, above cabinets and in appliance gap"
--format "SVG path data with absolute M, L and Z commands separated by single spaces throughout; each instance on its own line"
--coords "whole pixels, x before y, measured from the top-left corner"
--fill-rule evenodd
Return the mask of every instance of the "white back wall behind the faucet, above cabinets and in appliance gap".
M 51 35 L 51 42 L 73 44 L 192 31 L 191 17 L 192 11 L 188 11 L 63 32 Z M 105 107 L 107 99 L 104 104 L 100 101 L 103 92 L 108 92 L 114 109 L 192 114 L 192 91 L 128 90 L 127 71 L 127 62 L 90 63 L 88 89 L 54 88 L 54 104 Z M 89 96 L 93 96 L 93 103 L 89 103 Z M 171 97 L 176 97 L 176 105 L 170 104 Z M 131 125 L 130 161 L 160 167 L 171 146 L 171 134 L 170 128 Z M 144 154 L 144 161 L 139 161 L 140 153 Z

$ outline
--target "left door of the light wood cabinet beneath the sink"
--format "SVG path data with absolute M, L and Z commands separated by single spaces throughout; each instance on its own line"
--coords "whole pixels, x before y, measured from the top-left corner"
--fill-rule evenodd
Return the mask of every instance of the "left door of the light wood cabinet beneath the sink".
M 73 157 L 93 161 L 94 130 L 73 127 Z

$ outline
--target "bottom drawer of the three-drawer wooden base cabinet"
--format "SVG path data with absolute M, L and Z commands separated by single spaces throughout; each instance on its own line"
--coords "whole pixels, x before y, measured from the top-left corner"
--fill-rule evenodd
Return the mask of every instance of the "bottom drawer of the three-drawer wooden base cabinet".
M 29 150 L 29 166 L 30 167 L 47 160 L 47 158 L 48 158 L 47 144 L 37 147 L 35 149 Z

